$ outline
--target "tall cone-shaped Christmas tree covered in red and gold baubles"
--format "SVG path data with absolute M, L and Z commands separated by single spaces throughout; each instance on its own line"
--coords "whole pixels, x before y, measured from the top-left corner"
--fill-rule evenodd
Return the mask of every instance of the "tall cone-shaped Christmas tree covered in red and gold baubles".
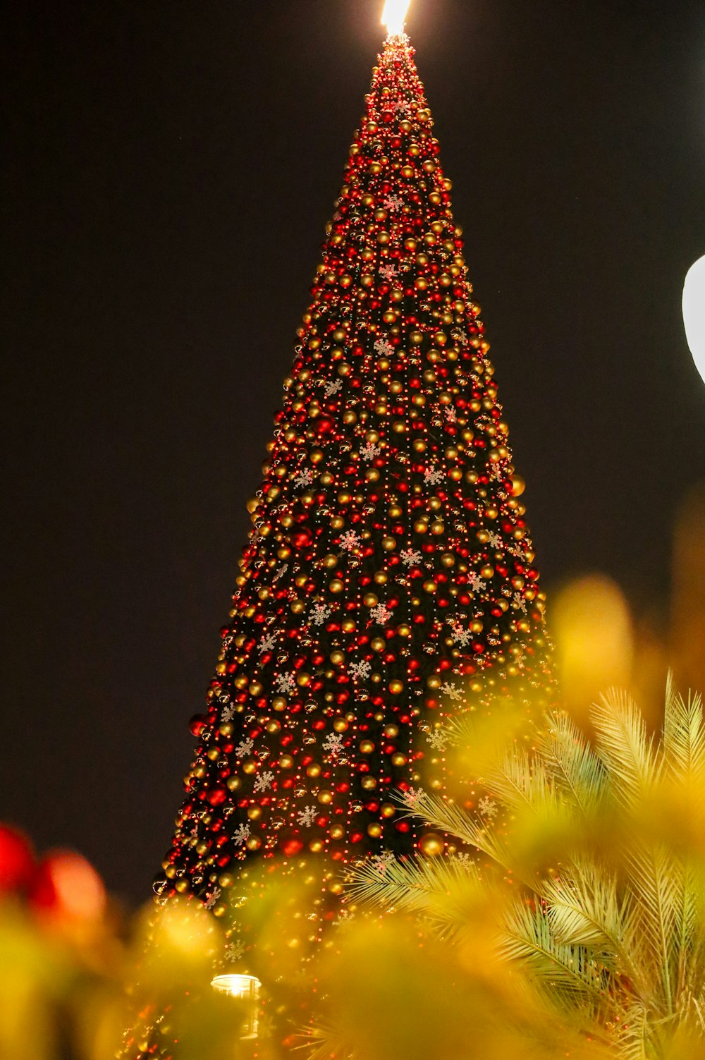
M 523 487 L 413 54 L 390 36 L 374 71 L 192 722 L 156 889 L 216 913 L 253 856 L 411 852 L 392 796 L 429 767 L 442 790 L 444 719 L 489 702 L 488 678 L 514 695 L 548 681 Z

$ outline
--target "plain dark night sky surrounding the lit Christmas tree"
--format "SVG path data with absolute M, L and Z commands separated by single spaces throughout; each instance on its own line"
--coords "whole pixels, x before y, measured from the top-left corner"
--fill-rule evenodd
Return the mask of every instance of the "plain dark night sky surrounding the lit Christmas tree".
M 13 6 L 0 818 L 168 846 L 382 0 Z M 703 0 L 413 0 L 544 582 L 666 608 L 705 478 Z

